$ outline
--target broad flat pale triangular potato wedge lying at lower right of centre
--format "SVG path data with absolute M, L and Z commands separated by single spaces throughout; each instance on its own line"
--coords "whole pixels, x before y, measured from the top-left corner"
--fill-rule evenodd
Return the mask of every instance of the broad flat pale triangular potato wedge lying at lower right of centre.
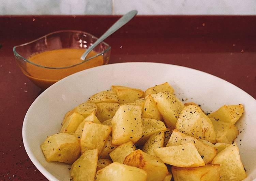
M 198 153 L 194 143 L 154 149 L 155 155 L 164 163 L 179 167 L 204 166 L 205 162 Z

